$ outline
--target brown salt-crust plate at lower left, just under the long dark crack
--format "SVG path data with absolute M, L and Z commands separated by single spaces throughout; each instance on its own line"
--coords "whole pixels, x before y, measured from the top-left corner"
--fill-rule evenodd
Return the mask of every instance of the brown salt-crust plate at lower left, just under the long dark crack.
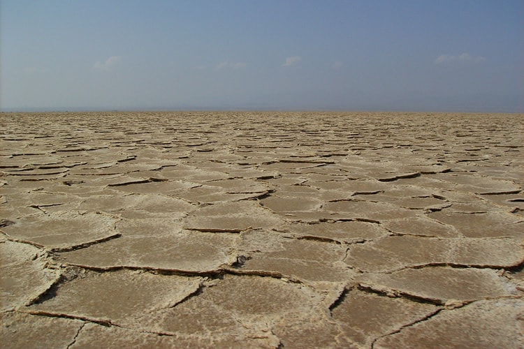
M 200 287 L 201 278 L 117 270 L 87 272 L 60 283 L 33 313 L 67 314 L 95 322 L 141 328 L 145 313 L 175 306 Z

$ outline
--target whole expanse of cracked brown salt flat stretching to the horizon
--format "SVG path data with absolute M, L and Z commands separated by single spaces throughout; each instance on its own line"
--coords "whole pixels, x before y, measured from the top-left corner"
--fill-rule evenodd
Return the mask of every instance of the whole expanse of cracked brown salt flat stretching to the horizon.
M 523 115 L 0 116 L 2 347 L 524 343 Z

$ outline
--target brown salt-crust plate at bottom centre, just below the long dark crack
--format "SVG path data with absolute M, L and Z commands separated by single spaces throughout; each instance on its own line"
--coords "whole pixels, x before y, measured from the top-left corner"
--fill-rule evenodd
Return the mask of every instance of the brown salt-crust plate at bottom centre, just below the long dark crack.
M 284 318 L 318 311 L 321 299 L 304 285 L 271 277 L 226 275 L 203 288 L 198 297 L 161 311 L 159 318 L 150 318 L 150 322 L 155 331 L 182 333 L 235 331 L 237 322 L 258 322 L 270 328 Z M 209 317 L 205 315 L 208 309 Z

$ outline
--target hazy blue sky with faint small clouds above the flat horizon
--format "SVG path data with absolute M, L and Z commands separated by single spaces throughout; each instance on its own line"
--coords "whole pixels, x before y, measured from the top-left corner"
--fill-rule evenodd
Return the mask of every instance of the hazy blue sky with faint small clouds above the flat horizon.
M 523 0 L 0 0 L 3 110 L 524 112 Z

